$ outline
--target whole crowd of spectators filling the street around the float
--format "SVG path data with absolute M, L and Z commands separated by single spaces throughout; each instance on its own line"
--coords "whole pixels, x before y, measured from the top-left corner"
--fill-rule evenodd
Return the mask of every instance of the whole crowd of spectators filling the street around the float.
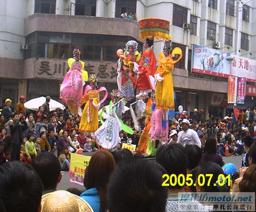
M 121 131 L 115 151 L 103 150 L 93 134 L 79 133 L 79 116 L 50 111 L 50 100 L 47 97 L 36 113 L 25 109 L 23 96 L 14 113 L 11 100 L 6 100 L 0 116 L 0 211 L 178 211 L 179 192 L 256 190 L 252 109 L 249 118 L 246 114 L 236 123 L 231 115 L 203 120 L 196 109 L 190 118 L 186 111 L 177 114 L 169 121 L 169 139 L 159 143 L 154 163 L 121 149 L 127 139 L 138 145 L 141 131 Z M 123 121 L 134 128 L 129 117 Z M 140 122 L 143 129 L 143 119 Z M 84 174 L 85 191 L 56 191 L 61 171 L 69 170 L 71 152 L 94 152 Z M 218 176 L 225 174 L 222 156 L 238 154 L 243 154 L 241 169 L 232 173 L 231 186 L 215 186 Z M 200 174 L 212 174 L 212 180 L 204 186 L 164 187 L 164 174 L 192 174 L 195 182 Z M 196 205 L 205 209 L 200 202 Z

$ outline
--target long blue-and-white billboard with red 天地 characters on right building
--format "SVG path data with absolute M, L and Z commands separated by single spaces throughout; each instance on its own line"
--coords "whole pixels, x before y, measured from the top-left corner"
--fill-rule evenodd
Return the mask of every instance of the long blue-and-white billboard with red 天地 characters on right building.
M 233 57 L 232 62 L 226 60 L 229 56 Z M 192 62 L 192 72 L 220 77 L 245 77 L 246 81 L 256 83 L 255 60 L 194 44 Z

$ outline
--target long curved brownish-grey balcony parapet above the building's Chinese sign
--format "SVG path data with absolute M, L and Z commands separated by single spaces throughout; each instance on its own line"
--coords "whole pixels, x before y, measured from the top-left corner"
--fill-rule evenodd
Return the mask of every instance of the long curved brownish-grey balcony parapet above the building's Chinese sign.
M 35 32 L 131 36 L 139 41 L 139 23 L 132 19 L 33 14 L 25 19 L 25 36 Z

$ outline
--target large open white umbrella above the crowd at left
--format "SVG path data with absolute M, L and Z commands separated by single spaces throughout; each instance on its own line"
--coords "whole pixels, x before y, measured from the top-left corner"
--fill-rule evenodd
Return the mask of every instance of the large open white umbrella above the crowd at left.
M 38 108 L 45 102 L 46 102 L 46 97 L 41 96 L 25 102 L 24 105 L 25 105 L 25 108 L 27 109 L 30 109 L 32 111 L 37 111 Z M 65 106 L 63 104 L 59 103 L 58 101 L 55 101 L 54 99 L 50 100 L 49 106 L 50 106 L 50 111 L 54 111 L 58 108 L 61 110 L 65 109 Z

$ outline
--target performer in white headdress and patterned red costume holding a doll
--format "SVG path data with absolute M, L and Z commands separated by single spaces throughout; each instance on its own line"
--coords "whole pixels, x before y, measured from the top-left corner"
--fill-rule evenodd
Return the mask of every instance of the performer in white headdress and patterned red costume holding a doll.
M 140 53 L 137 50 L 138 43 L 134 40 L 130 40 L 125 44 L 125 51 L 122 55 L 121 49 L 118 49 L 117 54 L 120 57 L 118 60 L 118 94 L 121 97 L 125 97 L 127 100 L 131 100 L 134 97 L 134 89 L 137 83 L 138 63 L 140 61 Z

